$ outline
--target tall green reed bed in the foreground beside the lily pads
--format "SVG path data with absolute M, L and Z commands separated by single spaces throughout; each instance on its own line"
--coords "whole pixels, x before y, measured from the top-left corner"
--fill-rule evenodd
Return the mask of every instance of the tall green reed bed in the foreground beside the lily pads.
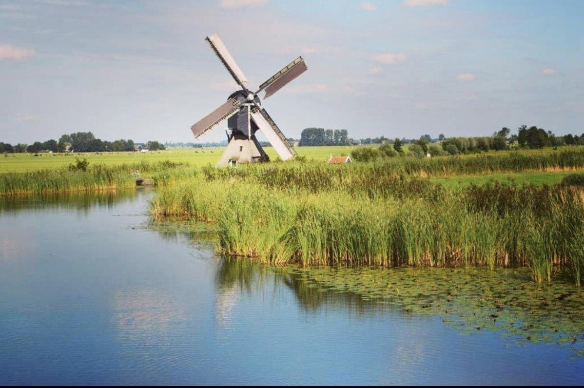
M 584 196 L 572 186 L 444 188 L 384 165 L 204 169 L 163 188 L 155 216 L 213 221 L 226 254 L 366 266 L 529 266 L 580 284 Z

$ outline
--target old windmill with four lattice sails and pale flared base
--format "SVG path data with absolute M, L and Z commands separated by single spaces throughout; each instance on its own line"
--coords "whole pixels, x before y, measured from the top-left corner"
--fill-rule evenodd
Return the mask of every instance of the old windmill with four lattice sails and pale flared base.
M 241 86 L 241 90 L 231 93 L 227 102 L 195 123 L 191 127 L 194 137 L 199 138 L 207 131 L 224 122 L 224 120 L 227 120 L 228 144 L 220 161 L 217 162 L 218 166 L 269 161 L 269 157 L 255 137 L 255 133 L 258 130 L 262 131 L 270 144 L 272 144 L 281 160 L 288 160 L 296 155 L 296 151 L 294 151 L 286 136 L 274 123 L 272 117 L 262 108 L 259 96 L 262 96 L 262 99 L 268 98 L 288 82 L 305 72 L 308 68 L 303 58 L 296 58 L 261 84 L 258 91 L 251 92 L 246 87 L 249 84 L 248 79 L 218 34 L 207 36 L 205 40 L 225 65 L 227 71 L 230 72 L 231 77 Z

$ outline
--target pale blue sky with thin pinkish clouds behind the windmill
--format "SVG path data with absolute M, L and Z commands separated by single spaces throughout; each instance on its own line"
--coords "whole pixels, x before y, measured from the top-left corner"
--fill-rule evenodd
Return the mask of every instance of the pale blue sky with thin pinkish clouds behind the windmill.
M 303 56 L 262 104 L 287 137 L 580 134 L 582 20 L 580 0 L 0 0 L 0 141 L 194 141 L 237 89 L 213 33 L 251 89 Z

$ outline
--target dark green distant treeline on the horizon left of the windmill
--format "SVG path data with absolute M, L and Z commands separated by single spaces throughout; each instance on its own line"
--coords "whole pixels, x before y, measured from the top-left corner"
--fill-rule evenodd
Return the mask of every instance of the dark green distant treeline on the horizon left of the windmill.
M 133 140 L 101 140 L 93 136 L 91 132 L 76 132 L 64 134 L 59 141 L 51 139 L 47 141 L 35 141 L 33 144 L 16 144 L 0 142 L 0 153 L 40 153 L 40 152 L 115 152 L 115 151 L 135 151 L 138 144 Z M 140 144 L 148 150 L 164 150 L 165 147 L 158 141 L 148 141 L 147 144 Z

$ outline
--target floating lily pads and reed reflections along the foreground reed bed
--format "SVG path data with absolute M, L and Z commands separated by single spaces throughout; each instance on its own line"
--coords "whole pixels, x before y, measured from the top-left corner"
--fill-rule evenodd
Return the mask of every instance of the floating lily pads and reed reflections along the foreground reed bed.
M 392 316 L 405 319 L 440 317 L 444 324 L 462 334 L 493 331 L 513 342 L 568 345 L 573 355 L 584 355 L 584 295 L 572 285 L 561 282 L 537 285 L 529 278 L 524 280 L 522 270 L 509 271 L 485 273 L 483 269 L 470 269 L 451 273 L 447 269 L 321 267 L 308 270 L 223 257 L 215 281 L 219 295 L 225 289 L 276 295 L 279 287 L 286 287 L 309 313 L 342 310 L 373 316 L 391 311 Z M 390 279 L 399 287 L 397 294 L 392 295 L 387 287 L 391 285 Z M 553 304 L 550 306 L 547 301 Z M 231 303 L 235 303 L 233 299 Z M 413 350 L 410 346 L 409 351 Z

